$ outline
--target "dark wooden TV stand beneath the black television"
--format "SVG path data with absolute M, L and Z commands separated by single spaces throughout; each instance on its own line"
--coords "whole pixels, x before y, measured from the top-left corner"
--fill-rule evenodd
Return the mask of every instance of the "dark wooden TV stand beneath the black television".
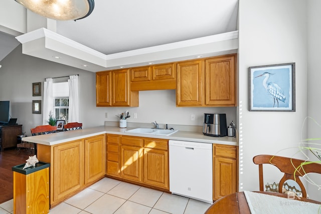
M 1 151 L 5 148 L 17 147 L 17 136 L 22 134 L 22 125 L 0 125 Z

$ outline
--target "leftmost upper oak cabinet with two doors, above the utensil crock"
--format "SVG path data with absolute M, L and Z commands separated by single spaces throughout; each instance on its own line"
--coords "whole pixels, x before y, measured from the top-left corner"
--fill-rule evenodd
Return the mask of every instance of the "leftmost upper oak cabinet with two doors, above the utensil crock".
M 96 106 L 138 106 L 138 91 L 130 91 L 128 69 L 96 73 Z

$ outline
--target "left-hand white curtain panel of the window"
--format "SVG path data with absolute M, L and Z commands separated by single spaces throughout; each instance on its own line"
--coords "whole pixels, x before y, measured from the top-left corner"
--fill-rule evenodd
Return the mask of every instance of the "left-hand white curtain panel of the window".
M 47 78 L 44 84 L 44 110 L 43 110 L 43 125 L 48 124 L 49 112 L 51 111 L 53 117 L 55 117 L 55 112 L 53 110 L 54 98 L 52 95 L 52 78 Z

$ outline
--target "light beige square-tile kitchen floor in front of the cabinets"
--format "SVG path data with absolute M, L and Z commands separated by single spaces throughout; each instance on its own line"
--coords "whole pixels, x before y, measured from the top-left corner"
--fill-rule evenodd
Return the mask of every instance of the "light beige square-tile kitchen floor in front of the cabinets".
M 103 178 L 50 209 L 50 214 L 204 213 L 211 204 L 180 195 Z M 0 214 L 13 213 L 13 199 L 0 204 Z

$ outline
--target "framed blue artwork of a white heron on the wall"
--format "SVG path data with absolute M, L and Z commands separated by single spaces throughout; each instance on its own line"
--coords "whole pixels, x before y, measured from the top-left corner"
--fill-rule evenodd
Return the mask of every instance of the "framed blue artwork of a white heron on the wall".
M 295 111 L 295 63 L 249 67 L 249 111 Z

